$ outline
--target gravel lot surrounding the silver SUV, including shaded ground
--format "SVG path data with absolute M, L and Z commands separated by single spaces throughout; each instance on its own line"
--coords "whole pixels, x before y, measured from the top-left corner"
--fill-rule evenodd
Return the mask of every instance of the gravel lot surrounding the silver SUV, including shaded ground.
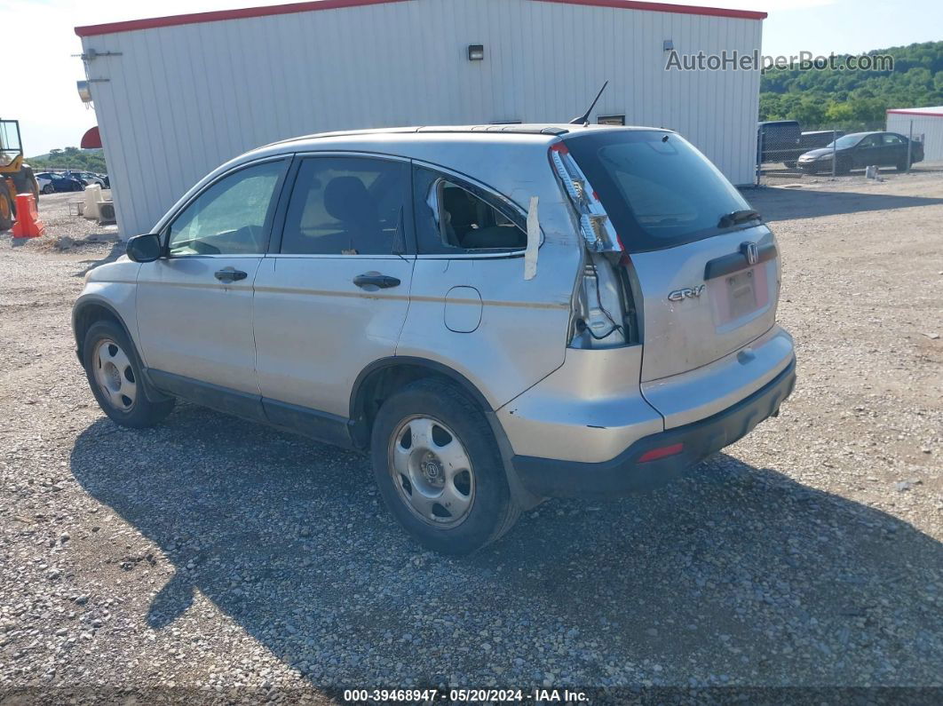
M 355 453 L 189 404 L 116 427 L 69 314 L 120 246 L 0 238 L 0 700 L 943 685 L 943 174 L 801 185 L 748 193 L 785 262 L 782 415 L 463 560 L 412 544 Z

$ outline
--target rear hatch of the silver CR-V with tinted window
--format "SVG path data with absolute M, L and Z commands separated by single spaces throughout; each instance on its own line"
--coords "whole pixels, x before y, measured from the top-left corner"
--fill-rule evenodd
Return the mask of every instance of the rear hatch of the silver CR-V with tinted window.
M 640 382 L 666 426 L 673 425 L 669 418 L 682 419 L 672 412 L 679 395 L 703 398 L 705 385 L 732 386 L 717 390 L 729 403 L 768 382 L 776 370 L 746 365 L 756 356 L 746 362 L 733 356 L 733 367 L 720 378 L 704 376 L 704 369 L 742 351 L 776 320 L 775 239 L 739 191 L 668 131 L 587 130 L 567 146 L 630 256 L 642 301 Z M 763 366 L 788 365 L 758 357 Z M 689 378 L 687 392 L 679 376 Z M 658 400 L 659 389 L 671 390 L 670 402 Z M 720 411 L 714 406 L 706 405 L 703 415 Z

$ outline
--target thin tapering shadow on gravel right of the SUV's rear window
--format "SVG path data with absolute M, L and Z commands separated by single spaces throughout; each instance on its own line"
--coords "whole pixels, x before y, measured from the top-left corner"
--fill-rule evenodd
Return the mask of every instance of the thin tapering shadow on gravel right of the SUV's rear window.
M 816 191 L 811 186 L 803 189 L 753 189 L 745 195 L 767 222 L 943 204 L 943 199 L 925 196 L 831 189 Z

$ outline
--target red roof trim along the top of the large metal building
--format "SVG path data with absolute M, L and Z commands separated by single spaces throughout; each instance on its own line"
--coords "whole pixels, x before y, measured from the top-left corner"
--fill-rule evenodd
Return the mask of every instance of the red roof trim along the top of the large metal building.
M 147 20 L 128 20 L 112 22 L 106 25 L 85 25 L 75 27 L 79 37 L 94 37 L 115 32 L 132 32 L 136 29 L 154 29 L 176 25 L 197 25 L 204 22 L 221 20 L 241 20 L 250 17 L 269 17 L 288 15 L 294 12 L 311 12 L 319 9 L 361 8 L 368 5 L 401 3 L 406 0 L 320 0 L 319 2 L 291 3 L 290 5 L 271 5 L 265 8 L 220 9 L 213 12 L 194 12 L 189 15 L 154 17 Z M 693 5 L 666 5 L 665 3 L 637 2 L 637 0 L 538 0 L 545 3 L 564 3 L 583 5 L 594 8 L 644 9 L 651 12 L 674 12 L 685 15 L 706 15 L 708 17 L 733 17 L 745 20 L 763 20 L 766 12 L 752 12 L 745 9 L 699 8 Z

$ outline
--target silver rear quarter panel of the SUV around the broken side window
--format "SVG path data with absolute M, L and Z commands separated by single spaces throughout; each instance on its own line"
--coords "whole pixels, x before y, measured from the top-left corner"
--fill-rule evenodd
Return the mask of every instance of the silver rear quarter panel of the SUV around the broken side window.
M 521 255 L 419 255 L 396 349 L 397 355 L 425 358 L 461 373 L 492 409 L 559 368 L 566 355 L 582 242 L 551 169 L 549 143 L 540 140 L 458 135 L 410 146 L 409 156 L 418 163 L 468 177 L 503 194 L 521 213 L 532 196 L 538 197 L 543 241 L 537 276 L 524 279 Z M 445 300 L 453 287 L 472 287 L 481 298 L 481 320 L 471 332 L 445 325 Z M 474 317 L 463 311 L 461 319 Z

